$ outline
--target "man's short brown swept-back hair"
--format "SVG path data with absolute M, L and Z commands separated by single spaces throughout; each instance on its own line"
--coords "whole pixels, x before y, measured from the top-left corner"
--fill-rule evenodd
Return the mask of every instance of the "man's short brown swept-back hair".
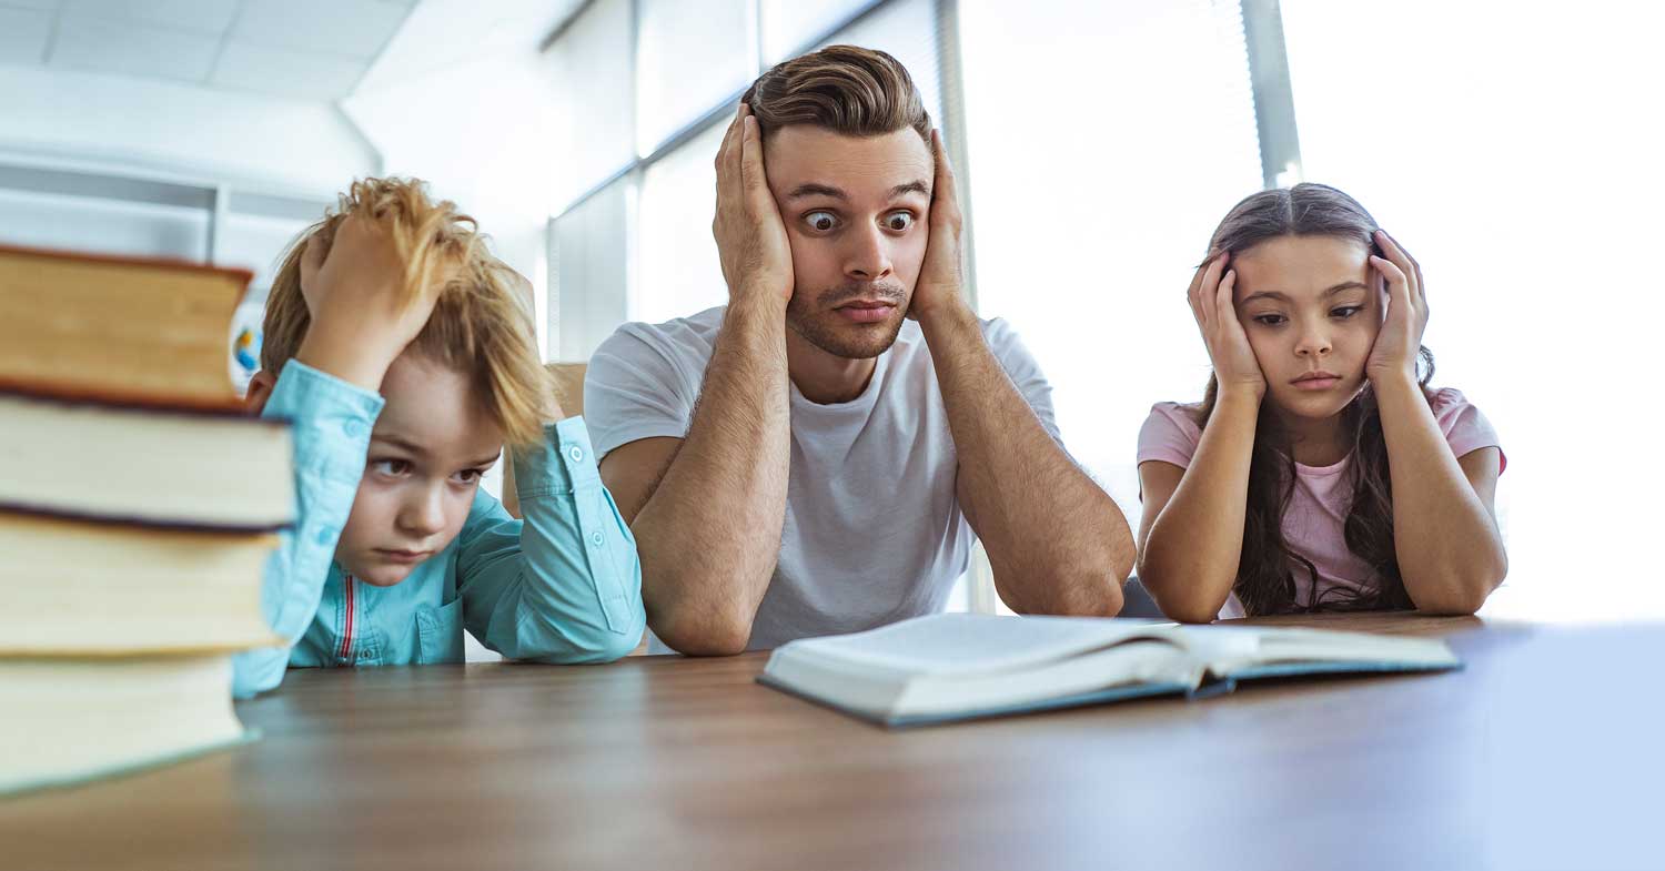
M 931 142 L 931 115 L 914 78 L 899 60 L 872 48 L 829 45 L 781 62 L 758 77 L 741 102 L 763 135 L 803 123 L 846 137 L 912 128 Z

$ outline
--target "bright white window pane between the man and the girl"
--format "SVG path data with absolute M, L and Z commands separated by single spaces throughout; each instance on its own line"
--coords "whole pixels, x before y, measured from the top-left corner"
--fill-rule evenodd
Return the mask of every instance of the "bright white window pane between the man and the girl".
M 1184 293 L 1260 188 L 1237 3 L 967 3 L 977 308 L 1052 383 L 1066 446 L 1139 523 L 1151 405 L 1202 396 Z

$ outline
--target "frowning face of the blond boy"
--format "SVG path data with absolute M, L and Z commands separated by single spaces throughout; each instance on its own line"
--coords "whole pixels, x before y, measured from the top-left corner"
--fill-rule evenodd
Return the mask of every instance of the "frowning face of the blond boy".
M 465 373 L 406 350 L 381 381 L 386 405 L 335 558 L 360 581 L 393 586 L 436 556 L 468 520 L 503 430 Z

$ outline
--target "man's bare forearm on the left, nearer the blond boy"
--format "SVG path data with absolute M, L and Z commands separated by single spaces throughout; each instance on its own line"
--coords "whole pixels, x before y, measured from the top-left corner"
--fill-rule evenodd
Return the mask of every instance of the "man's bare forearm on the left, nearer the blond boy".
M 791 411 L 781 300 L 729 306 L 683 440 L 631 525 L 643 601 L 683 653 L 738 653 L 786 520 Z

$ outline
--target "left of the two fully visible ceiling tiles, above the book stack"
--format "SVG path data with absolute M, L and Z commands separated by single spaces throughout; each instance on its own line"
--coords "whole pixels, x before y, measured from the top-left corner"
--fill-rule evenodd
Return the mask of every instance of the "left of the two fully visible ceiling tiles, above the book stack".
M 125 22 L 65 18 L 50 65 L 97 73 L 145 75 L 203 82 L 213 68 L 220 40 L 180 30 Z

